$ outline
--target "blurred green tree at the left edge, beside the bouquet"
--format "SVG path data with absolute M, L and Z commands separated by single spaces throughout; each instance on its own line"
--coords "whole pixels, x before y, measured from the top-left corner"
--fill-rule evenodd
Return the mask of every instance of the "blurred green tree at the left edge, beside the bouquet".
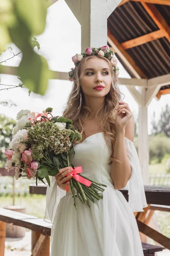
M 16 125 L 14 119 L 8 118 L 7 116 L 0 114 L 0 167 L 5 166 L 6 148 L 9 147 L 9 143 L 12 139 L 12 128 Z

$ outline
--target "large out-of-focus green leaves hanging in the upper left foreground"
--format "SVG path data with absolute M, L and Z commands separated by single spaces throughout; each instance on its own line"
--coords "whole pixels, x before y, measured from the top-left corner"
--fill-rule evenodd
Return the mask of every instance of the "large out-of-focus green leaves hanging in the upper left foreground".
M 31 38 L 44 31 L 47 7 L 45 0 L 0 1 L 0 52 L 11 42 L 23 52 L 17 74 L 29 90 L 42 95 L 48 86 L 48 64 L 34 52 L 37 42 Z M 1 65 L 0 73 L 4 69 Z

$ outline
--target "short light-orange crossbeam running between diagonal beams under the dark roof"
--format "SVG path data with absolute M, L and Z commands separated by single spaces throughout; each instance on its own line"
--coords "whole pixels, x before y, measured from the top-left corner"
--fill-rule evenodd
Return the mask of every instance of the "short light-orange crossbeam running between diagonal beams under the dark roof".
M 161 29 L 159 29 L 146 35 L 139 36 L 138 38 L 134 38 L 126 42 L 123 42 L 121 45 L 124 49 L 129 49 L 163 37 L 164 32 Z

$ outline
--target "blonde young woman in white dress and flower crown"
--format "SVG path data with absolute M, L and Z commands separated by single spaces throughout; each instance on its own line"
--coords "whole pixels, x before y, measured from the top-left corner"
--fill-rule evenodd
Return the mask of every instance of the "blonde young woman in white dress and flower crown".
M 90 207 L 77 200 L 76 210 L 71 189 L 65 192 L 69 168 L 51 177 L 45 213 L 53 223 L 51 256 L 143 256 L 133 212 L 144 211 L 147 202 L 133 144 L 133 113 L 121 101 L 116 84 L 116 58 L 105 46 L 87 48 L 72 60 L 76 67 L 69 76 L 74 84 L 63 116 L 73 120 L 82 141 L 74 143 L 71 163 L 107 187 L 103 198 L 90 202 Z M 118 190 L 124 187 L 129 190 L 128 203 Z

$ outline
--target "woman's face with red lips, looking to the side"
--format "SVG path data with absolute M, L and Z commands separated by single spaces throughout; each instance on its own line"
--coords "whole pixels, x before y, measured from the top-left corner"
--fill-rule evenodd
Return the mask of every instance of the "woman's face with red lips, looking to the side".
M 89 58 L 84 67 L 84 74 L 80 79 L 82 91 L 92 97 L 103 97 L 111 89 L 111 71 L 107 61 L 102 58 Z M 93 89 L 96 85 L 102 85 L 102 90 Z

